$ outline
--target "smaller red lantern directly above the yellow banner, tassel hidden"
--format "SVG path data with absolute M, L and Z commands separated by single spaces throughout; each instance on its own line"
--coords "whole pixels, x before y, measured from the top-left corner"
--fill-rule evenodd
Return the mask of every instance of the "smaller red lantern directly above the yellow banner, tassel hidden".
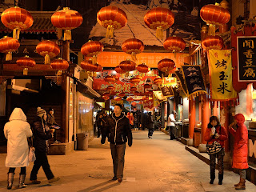
M 224 45 L 223 39 L 218 35 L 209 35 L 202 40 L 202 49 L 204 50 L 221 50 Z

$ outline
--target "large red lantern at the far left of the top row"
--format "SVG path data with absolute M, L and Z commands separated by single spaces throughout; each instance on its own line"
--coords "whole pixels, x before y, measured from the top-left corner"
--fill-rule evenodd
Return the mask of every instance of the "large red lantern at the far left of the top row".
M 1 21 L 4 26 L 13 30 L 13 38 L 19 39 L 20 31 L 30 28 L 34 19 L 27 10 L 14 6 L 2 12 Z

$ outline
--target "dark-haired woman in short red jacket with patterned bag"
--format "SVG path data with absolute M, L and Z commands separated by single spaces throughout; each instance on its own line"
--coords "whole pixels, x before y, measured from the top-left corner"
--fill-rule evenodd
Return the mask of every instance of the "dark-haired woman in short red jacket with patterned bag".
M 205 133 L 205 140 L 207 145 L 213 145 L 213 143 L 218 142 L 221 147 L 219 151 L 212 152 L 210 154 L 210 184 L 214 184 L 215 179 L 215 165 L 216 158 L 218 159 L 218 185 L 222 185 L 223 174 L 224 174 L 224 163 L 223 158 L 225 155 L 224 150 L 224 141 L 227 139 L 226 129 L 224 126 L 221 126 L 218 120 L 218 117 L 211 116 L 210 122 L 207 126 Z M 216 153 L 217 152 L 217 153 Z

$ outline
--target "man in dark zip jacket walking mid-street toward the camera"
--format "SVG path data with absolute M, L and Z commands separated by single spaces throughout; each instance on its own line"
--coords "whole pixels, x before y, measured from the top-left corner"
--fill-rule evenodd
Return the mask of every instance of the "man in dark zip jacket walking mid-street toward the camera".
M 121 104 L 115 104 L 114 113 L 106 118 L 104 131 L 106 131 L 106 133 L 102 134 L 102 144 L 105 143 L 107 136 L 108 141 L 110 142 L 111 155 L 113 159 L 113 180 L 118 179 L 118 182 L 122 182 L 126 142 L 128 140 L 128 146 L 132 146 L 133 136 L 130 130 L 129 119 L 122 114 Z

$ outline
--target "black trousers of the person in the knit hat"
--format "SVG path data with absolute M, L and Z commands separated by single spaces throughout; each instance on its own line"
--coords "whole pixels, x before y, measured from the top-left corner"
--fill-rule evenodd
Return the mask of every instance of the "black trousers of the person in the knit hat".
M 36 160 L 34 161 L 34 166 L 33 166 L 33 169 L 31 170 L 30 180 L 37 180 L 38 170 L 40 169 L 41 166 L 48 180 L 51 178 L 54 178 L 54 174 L 50 170 L 47 154 L 45 152 L 39 152 L 39 151 L 37 152 L 37 150 L 35 150 L 34 153 L 35 153 Z

